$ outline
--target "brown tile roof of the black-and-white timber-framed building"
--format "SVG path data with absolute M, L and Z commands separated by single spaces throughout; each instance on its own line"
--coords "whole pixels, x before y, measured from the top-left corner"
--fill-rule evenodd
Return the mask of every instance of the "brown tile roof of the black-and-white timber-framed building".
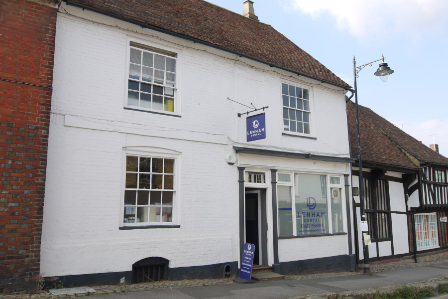
M 355 103 L 348 101 L 347 118 L 350 132 L 351 156 L 352 158 L 357 159 L 358 142 L 355 109 Z M 417 164 L 420 164 L 420 166 L 427 164 L 448 166 L 447 157 L 428 148 L 369 108 L 359 105 L 358 109 L 361 157 L 363 163 L 377 163 L 403 168 L 418 168 L 418 166 L 405 154 L 405 152 L 407 152 L 417 159 Z

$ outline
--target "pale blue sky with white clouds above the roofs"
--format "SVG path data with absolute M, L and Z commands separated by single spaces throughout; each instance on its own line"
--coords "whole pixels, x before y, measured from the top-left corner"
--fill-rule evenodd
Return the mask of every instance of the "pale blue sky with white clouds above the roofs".
M 243 0 L 208 1 L 243 13 Z M 351 86 L 353 57 L 359 66 L 384 55 L 395 72 L 382 82 L 373 75 L 381 61 L 364 67 L 358 104 L 448 157 L 447 0 L 252 1 L 261 22 Z

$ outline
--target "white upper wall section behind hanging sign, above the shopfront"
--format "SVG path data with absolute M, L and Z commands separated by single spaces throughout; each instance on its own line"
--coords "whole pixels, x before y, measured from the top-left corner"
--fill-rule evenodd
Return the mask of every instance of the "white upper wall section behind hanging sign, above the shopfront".
M 343 94 L 269 73 L 254 72 L 253 69 L 243 66 L 236 67 L 236 75 L 241 78 L 252 78 L 249 81 L 238 80 L 236 82 L 236 101 L 248 106 L 253 103 L 256 108 L 269 106 L 265 110 L 266 139 L 246 143 L 246 119 L 243 116 L 238 119 L 238 145 L 250 147 L 263 145 L 264 148 L 271 150 L 289 149 L 316 155 L 349 157 L 346 107 Z M 310 89 L 314 99 L 311 103 L 311 121 L 314 126 L 312 132 L 314 131 L 314 134 L 311 134 L 311 137 L 315 139 L 282 135 L 282 83 Z M 240 113 L 250 110 L 243 106 L 239 106 L 237 109 Z

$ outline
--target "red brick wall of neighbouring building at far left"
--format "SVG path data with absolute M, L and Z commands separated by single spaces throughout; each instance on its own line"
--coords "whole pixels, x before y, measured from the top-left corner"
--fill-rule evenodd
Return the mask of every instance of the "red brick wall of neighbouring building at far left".
M 40 2 L 0 2 L 0 292 L 39 275 L 56 31 L 55 3 Z

